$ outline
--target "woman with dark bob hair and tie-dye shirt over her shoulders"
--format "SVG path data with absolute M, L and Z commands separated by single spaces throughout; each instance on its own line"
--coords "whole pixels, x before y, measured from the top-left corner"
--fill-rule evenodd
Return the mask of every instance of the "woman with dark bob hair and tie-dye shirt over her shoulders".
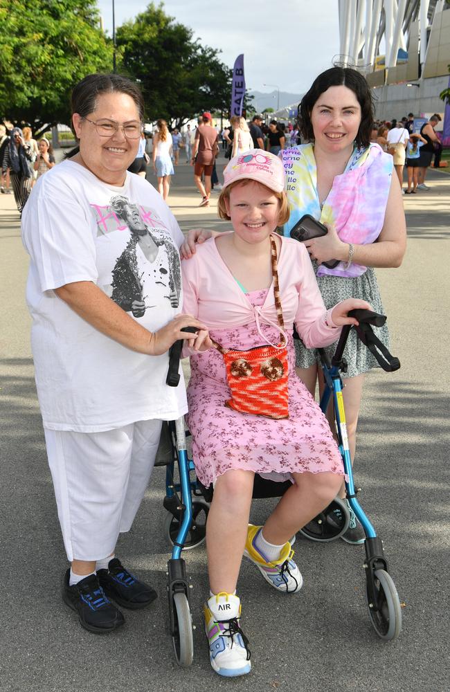
M 303 140 L 309 143 L 280 154 L 291 208 L 284 233 L 289 235 L 304 214 L 325 224 L 327 235 L 305 242 L 325 307 L 352 297 L 367 300 L 373 310 L 382 313 L 374 267 L 400 266 L 406 224 L 393 158 L 370 143 L 374 120 L 370 87 L 356 70 L 332 67 L 314 80 L 298 114 Z M 388 345 L 386 327 L 378 329 L 377 336 Z M 325 350 L 332 355 L 334 349 L 332 345 Z M 378 363 L 354 330 L 345 358 L 348 372 L 343 374 L 343 398 L 354 459 L 363 373 Z M 313 396 L 317 379 L 319 389 L 323 388 L 318 363 L 316 349 L 296 342 L 298 374 Z M 344 487 L 341 496 L 345 497 Z M 362 543 L 363 539 L 363 529 L 350 511 L 350 527 L 343 540 Z

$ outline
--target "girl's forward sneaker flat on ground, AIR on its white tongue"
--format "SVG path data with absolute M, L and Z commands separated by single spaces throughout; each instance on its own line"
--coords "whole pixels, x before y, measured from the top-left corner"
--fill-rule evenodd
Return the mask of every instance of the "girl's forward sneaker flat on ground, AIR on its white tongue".
M 213 670 L 224 677 L 250 673 L 249 640 L 240 626 L 239 598 L 221 592 L 206 601 L 203 612 Z

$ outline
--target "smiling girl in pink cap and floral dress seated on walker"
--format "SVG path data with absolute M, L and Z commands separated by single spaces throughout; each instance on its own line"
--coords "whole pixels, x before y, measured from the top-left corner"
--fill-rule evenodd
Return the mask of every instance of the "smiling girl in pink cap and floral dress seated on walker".
M 204 617 L 211 665 L 226 677 L 251 668 L 235 591 L 242 554 L 273 588 L 298 593 L 302 576 L 289 538 L 327 507 L 343 476 L 330 426 L 295 373 L 293 325 L 307 345 L 330 345 L 339 338 L 339 327 L 356 323 L 349 310 L 369 308 L 363 300 L 349 299 L 325 310 L 305 246 L 275 233 L 289 217 L 284 185 L 276 156 L 251 149 L 233 158 L 224 171 L 219 215 L 231 219 L 234 230 L 197 245 L 192 259 L 182 263 L 183 311 L 209 329 L 191 341 L 196 351 L 190 359 L 188 425 L 197 475 L 204 485 L 214 484 L 206 527 L 210 597 Z M 269 344 L 280 354 L 287 340 L 289 417 L 235 410 L 224 357 L 212 339 L 224 349 Z M 246 361 L 240 361 L 241 372 L 235 374 L 245 377 Z M 283 375 L 280 361 L 281 355 L 272 359 L 267 379 Z M 291 481 L 264 527 L 249 525 L 255 472 Z

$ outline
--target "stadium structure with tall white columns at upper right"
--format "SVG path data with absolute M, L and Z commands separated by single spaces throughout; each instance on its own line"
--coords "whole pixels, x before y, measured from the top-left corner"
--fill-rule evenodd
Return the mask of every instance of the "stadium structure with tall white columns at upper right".
M 375 90 L 380 120 L 443 113 L 449 85 L 449 0 L 339 0 L 341 55 Z

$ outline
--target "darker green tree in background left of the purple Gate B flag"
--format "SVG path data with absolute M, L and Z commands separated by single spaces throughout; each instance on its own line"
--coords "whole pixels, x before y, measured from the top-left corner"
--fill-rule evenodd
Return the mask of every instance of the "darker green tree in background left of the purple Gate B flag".
M 202 111 L 228 113 L 232 71 L 219 51 L 201 46 L 190 28 L 168 17 L 163 4 L 120 26 L 120 72 L 141 82 L 147 118 L 176 120 L 177 127 Z

